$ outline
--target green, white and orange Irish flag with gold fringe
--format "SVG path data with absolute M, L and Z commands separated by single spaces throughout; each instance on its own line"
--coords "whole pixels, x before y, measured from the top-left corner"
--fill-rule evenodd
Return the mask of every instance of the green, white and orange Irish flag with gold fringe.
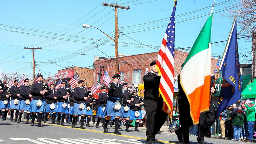
M 212 12 L 213 7 L 182 66 L 180 75 L 194 124 L 198 124 L 200 112 L 208 111 L 210 105 Z

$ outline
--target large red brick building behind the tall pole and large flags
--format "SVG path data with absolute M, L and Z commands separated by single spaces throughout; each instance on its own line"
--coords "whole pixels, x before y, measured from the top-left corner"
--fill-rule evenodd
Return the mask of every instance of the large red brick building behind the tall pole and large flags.
M 175 67 L 174 67 L 174 76 L 181 71 L 181 64 L 184 63 L 188 53 L 175 51 Z M 145 53 L 138 55 L 124 55 L 118 54 L 118 63 L 119 63 L 119 72 L 122 75 L 122 78 L 125 82 L 130 84 L 134 84 L 134 86 L 138 87 L 139 84 L 143 83 L 143 74 L 146 72 L 146 68 L 150 71 L 150 63 L 152 61 L 156 61 L 158 56 L 158 52 L 153 53 Z M 211 59 L 211 74 L 214 73 L 214 70 L 217 69 L 216 63 L 219 59 Z M 198 62 L 200 64 L 200 62 Z M 110 78 L 115 74 L 115 60 L 113 58 L 102 58 L 95 57 L 95 78 L 94 83 L 100 81 L 100 66 L 106 67 L 105 70 L 108 71 Z

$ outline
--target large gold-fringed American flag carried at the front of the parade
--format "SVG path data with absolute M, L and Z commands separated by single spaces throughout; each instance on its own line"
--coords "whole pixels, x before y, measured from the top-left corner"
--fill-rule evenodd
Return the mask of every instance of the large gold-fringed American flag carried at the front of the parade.
M 163 37 L 162 45 L 156 62 L 156 68 L 161 75 L 159 92 L 163 97 L 164 105 L 167 105 L 163 107 L 163 111 L 167 113 L 172 112 L 174 94 L 174 35 L 176 5 L 177 0 L 174 0 L 172 15 L 165 32 L 165 36 Z M 168 111 L 167 108 L 169 108 L 170 111 Z

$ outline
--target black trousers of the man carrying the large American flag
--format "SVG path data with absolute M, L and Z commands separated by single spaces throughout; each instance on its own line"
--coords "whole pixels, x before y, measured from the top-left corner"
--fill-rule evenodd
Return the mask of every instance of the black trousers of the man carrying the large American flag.
M 163 100 L 161 98 L 158 101 L 145 100 L 144 105 L 147 114 L 146 142 L 154 142 L 156 141 L 155 135 L 165 123 L 168 114 L 162 111 Z

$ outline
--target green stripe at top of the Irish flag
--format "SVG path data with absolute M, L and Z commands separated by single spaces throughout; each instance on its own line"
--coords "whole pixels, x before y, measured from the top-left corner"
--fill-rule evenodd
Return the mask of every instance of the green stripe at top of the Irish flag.
M 183 64 L 183 67 L 191 57 L 203 51 L 204 49 L 209 48 L 209 43 L 211 42 L 211 27 L 212 27 L 212 13 L 211 13 L 211 16 L 209 16 L 209 18 L 207 19 L 206 23 L 204 24 L 202 30 L 200 31 L 194 45 L 192 46 Z

